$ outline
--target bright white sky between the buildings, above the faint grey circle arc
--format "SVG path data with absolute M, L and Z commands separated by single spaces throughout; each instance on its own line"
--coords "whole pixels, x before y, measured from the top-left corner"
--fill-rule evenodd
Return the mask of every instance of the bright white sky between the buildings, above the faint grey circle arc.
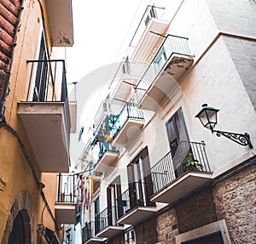
M 134 17 L 142 17 L 136 13 L 143 0 L 72 2 L 74 45 L 67 48 L 69 83 L 79 82 L 90 71 L 122 59 L 120 48 L 128 46 L 123 45 L 125 37 L 131 40 L 133 33 L 127 33 Z

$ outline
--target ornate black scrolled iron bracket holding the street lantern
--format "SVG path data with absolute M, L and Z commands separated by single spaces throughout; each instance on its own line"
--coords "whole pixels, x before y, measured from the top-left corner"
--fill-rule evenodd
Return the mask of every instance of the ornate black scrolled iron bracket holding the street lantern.
M 221 135 L 223 135 L 224 137 L 226 137 L 227 139 L 233 140 L 234 142 L 236 142 L 239 145 L 248 145 L 248 147 L 250 149 L 253 149 L 253 145 L 251 143 L 250 140 L 250 136 L 248 133 L 230 133 L 230 132 L 226 132 L 226 131 L 220 131 L 220 130 L 214 130 L 211 128 L 212 133 L 216 133 L 216 135 L 218 137 L 220 137 Z

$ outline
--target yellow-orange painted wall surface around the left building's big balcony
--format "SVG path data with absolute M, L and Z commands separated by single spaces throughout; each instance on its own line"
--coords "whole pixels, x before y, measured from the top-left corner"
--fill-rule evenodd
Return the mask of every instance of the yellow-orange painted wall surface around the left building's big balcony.
M 38 51 L 38 37 L 42 27 L 46 30 L 46 38 L 50 47 L 49 27 L 47 26 L 47 14 L 44 1 L 24 0 L 19 30 L 17 32 L 14 59 L 9 79 L 9 95 L 6 99 L 6 111 L 4 116 L 11 128 L 19 134 L 26 152 L 32 162 L 35 174 L 45 184 L 43 189 L 50 210 L 55 214 L 56 174 L 41 174 L 38 164 L 32 153 L 32 147 L 26 136 L 19 116 L 17 116 L 17 102 L 26 99 L 28 89 L 26 60 L 35 60 Z M 44 14 L 41 10 L 44 9 Z M 44 25 L 43 25 L 44 22 Z M 46 23 L 46 26 L 45 26 Z M 49 54 L 51 48 L 49 48 Z M 31 201 L 26 202 L 30 208 L 32 217 L 32 242 L 37 240 L 37 224 L 44 224 L 51 230 L 55 230 L 55 223 L 50 217 L 48 209 L 42 200 L 41 190 L 32 174 L 24 152 L 22 152 L 18 139 L 5 127 L 0 128 L 0 241 L 6 229 L 11 207 L 20 191 L 26 191 Z

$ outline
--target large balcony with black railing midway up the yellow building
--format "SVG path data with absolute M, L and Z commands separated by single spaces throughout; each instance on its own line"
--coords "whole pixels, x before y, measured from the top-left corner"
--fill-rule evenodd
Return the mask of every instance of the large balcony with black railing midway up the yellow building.
M 26 101 L 17 114 L 38 166 L 45 173 L 68 173 L 71 128 L 64 60 L 29 60 Z

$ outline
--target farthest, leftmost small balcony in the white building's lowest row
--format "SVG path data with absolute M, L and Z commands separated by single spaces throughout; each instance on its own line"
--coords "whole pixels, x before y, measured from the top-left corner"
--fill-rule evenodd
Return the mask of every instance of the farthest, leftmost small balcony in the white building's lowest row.
M 91 221 L 85 223 L 85 226 L 82 230 L 82 243 L 83 244 L 97 244 L 102 241 L 106 241 L 107 238 L 96 237 L 95 235 L 95 222 Z

